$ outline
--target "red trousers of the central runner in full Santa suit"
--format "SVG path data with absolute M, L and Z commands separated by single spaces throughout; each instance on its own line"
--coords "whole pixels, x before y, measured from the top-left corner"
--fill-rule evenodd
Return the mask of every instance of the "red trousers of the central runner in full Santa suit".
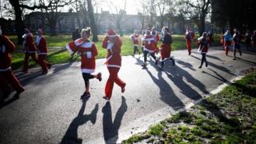
M 126 86 L 126 83 L 122 82 L 122 80 L 118 78 L 118 71 L 120 70 L 120 68 L 108 66 L 107 69 L 110 72 L 110 77 L 106 82 L 105 94 L 107 98 L 111 98 L 114 82 L 118 84 L 118 86 L 120 86 L 121 88 Z

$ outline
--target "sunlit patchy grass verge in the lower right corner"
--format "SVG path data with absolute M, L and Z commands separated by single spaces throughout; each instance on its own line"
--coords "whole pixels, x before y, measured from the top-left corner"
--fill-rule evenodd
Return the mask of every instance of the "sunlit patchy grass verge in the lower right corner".
M 255 143 L 256 70 L 122 143 Z

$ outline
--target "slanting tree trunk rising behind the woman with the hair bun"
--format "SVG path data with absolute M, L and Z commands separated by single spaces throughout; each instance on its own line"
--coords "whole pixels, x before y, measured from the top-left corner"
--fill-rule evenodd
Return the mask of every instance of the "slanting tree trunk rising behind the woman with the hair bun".
M 87 4 L 88 4 L 88 13 L 90 16 L 90 26 L 92 30 L 91 32 L 93 34 L 93 41 L 98 42 L 98 30 L 97 30 L 97 26 L 94 18 L 94 8 L 91 4 L 91 0 L 87 0 Z

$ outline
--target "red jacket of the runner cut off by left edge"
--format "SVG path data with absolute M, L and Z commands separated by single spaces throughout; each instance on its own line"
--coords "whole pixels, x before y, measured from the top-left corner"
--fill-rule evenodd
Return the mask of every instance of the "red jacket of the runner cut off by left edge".
M 11 56 L 15 50 L 14 43 L 4 35 L 0 35 L 0 71 L 10 70 Z

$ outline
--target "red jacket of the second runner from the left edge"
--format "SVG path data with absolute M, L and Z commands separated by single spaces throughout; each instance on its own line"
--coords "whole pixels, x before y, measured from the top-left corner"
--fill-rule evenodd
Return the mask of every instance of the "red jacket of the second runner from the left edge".
M 25 52 L 26 53 L 35 53 L 37 50 L 36 50 L 36 46 L 34 45 L 33 34 L 31 34 L 31 33 L 24 34 L 23 38 L 25 40 L 25 42 L 24 42 Z

